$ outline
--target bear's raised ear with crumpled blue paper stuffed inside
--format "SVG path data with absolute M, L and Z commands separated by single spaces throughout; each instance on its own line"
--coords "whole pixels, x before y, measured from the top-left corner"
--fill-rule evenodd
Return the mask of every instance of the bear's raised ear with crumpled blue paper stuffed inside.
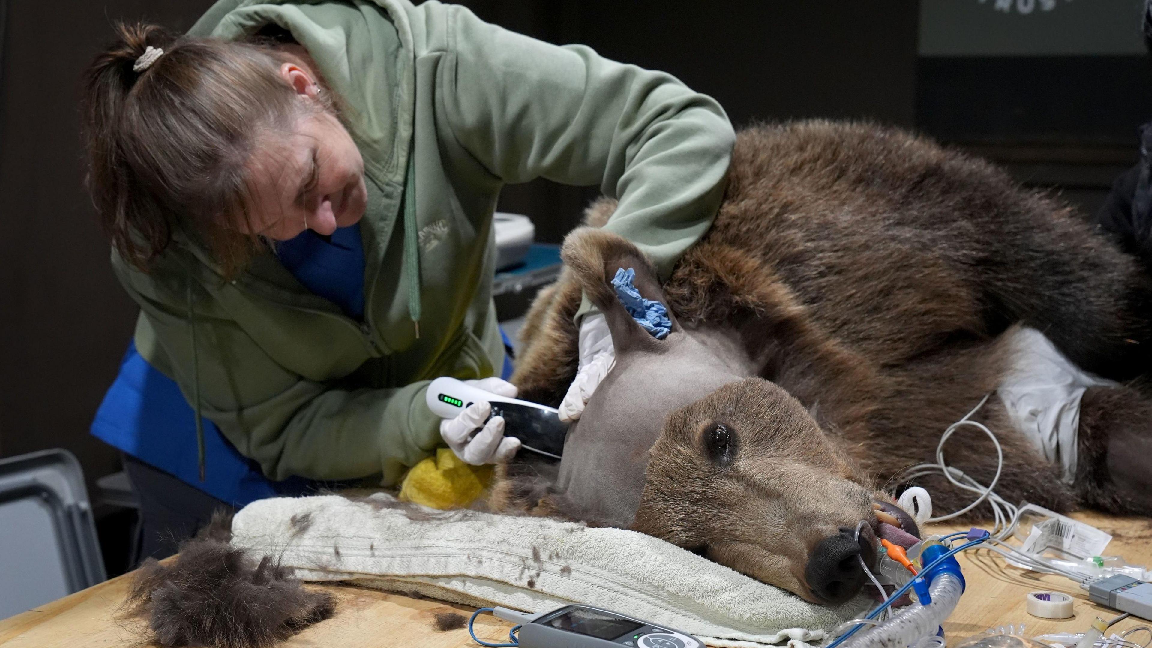
M 600 309 L 612 331 L 612 344 L 616 356 L 631 351 L 659 351 L 664 346 L 643 326 L 636 323 L 616 296 L 612 279 L 619 270 L 635 270 L 634 285 L 641 296 L 658 301 L 668 308 L 668 300 L 660 287 L 655 269 L 644 253 L 623 238 L 592 227 L 574 229 L 564 239 L 560 256 L 571 269 L 588 299 Z M 672 332 L 679 332 L 680 324 L 675 314 L 668 308 L 672 321 Z

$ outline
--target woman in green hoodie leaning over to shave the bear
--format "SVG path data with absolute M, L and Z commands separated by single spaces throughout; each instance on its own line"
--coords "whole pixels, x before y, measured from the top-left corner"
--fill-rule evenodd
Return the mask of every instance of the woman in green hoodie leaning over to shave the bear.
M 142 310 L 93 431 L 134 457 L 146 543 L 301 477 L 394 484 L 445 443 L 510 457 L 499 417 L 468 440 L 486 404 L 441 422 L 424 402 L 431 378 L 503 363 L 501 187 L 599 184 L 620 199 L 607 227 L 667 273 L 708 227 L 734 141 L 668 75 L 439 2 L 221 0 L 180 38 L 121 28 L 86 92 L 90 188 Z M 611 345 L 589 310 L 599 375 Z M 569 416 L 596 376 L 577 383 Z

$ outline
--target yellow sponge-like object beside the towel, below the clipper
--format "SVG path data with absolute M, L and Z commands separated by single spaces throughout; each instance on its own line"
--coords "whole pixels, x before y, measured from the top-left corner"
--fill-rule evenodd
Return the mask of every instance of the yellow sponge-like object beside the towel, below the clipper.
M 492 466 L 464 464 L 441 447 L 412 466 L 400 484 L 400 499 L 432 508 L 462 508 L 476 502 L 492 482 Z

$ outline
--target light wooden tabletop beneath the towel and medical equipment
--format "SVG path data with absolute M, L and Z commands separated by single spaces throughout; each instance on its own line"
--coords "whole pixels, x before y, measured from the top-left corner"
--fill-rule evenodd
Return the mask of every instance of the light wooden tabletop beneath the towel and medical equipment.
M 1129 563 L 1152 564 L 1152 520 L 1111 518 L 1096 513 L 1073 515 L 1113 534 L 1108 553 L 1124 556 Z M 939 533 L 939 529 L 930 529 Z M 1117 612 L 1087 601 L 1077 583 L 1055 577 L 1025 572 L 1006 566 L 990 551 L 965 551 L 960 563 L 968 589 L 960 606 L 943 624 L 949 645 L 1000 624 L 1028 624 L 1028 635 L 1049 632 L 1083 632 L 1096 616 L 1111 618 Z M 129 574 L 130 575 L 130 574 Z M 141 640 L 139 621 L 116 615 L 124 600 L 129 575 L 73 594 L 35 610 L 0 620 L 0 646 L 3 648 L 96 648 L 104 646 L 149 646 Z M 319 586 L 317 586 L 319 587 Z M 349 586 L 324 586 L 338 597 L 336 615 L 306 628 L 281 646 L 285 648 L 381 648 L 384 646 L 419 646 L 420 648 L 475 648 L 467 630 L 437 632 L 438 612 L 458 612 L 465 617 L 471 609 L 429 598 L 385 594 Z M 1024 596 L 1034 589 L 1051 589 L 1073 595 L 1076 617 L 1066 620 L 1038 619 L 1024 611 Z M 1113 631 L 1144 625 L 1128 618 Z M 507 624 L 483 615 L 477 619 L 477 635 L 488 641 L 507 638 Z M 1149 624 L 1152 625 L 1152 624 Z M 1144 642 L 1144 636 L 1132 639 Z

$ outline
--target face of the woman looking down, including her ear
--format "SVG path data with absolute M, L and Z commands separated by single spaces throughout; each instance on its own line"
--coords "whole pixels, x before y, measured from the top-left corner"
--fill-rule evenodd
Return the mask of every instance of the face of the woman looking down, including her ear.
M 286 80 L 301 100 L 314 100 L 317 86 L 286 63 Z M 364 159 L 348 130 L 332 113 L 302 111 L 285 131 L 265 131 L 248 161 L 249 221 L 237 229 L 275 241 L 304 229 L 328 235 L 359 221 L 367 204 Z

